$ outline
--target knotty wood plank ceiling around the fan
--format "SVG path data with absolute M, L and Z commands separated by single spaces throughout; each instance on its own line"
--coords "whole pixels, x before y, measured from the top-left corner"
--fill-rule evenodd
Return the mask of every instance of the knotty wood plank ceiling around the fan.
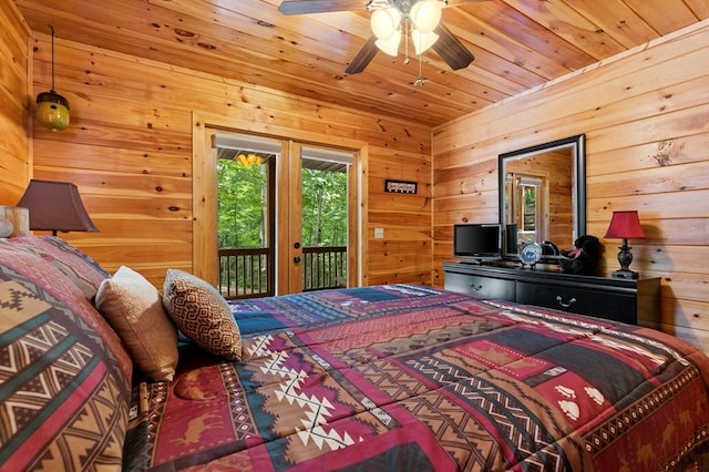
M 709 18 L 707 0 L 487 0 L 443 10 L 475 55 L 452 71 L 430 50 L 404 65 L 354 12 L 287 17 L 280 0 L 14 0 L 32 30 L 258 86 L 439 125 Z M 412 49 L 412 48 L 411 48 Z M 424 85 L 414 85 L 419 68 Z

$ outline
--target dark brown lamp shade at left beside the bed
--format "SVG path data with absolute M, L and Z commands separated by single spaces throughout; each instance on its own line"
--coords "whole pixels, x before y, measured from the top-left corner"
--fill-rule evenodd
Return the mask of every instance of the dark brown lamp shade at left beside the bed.
M 97 232 L 70 182 L 31 179 L 17 206 L 30 211 L 30 229 L 56 232 Z

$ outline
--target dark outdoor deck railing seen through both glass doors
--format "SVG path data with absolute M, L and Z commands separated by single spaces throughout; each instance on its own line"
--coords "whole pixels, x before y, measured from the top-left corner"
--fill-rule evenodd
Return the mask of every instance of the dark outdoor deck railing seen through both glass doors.
M 269 274 L 271 252 L 266 247 L 219 249 L 218 290 L 227 299 L 268 297 L 275 294 Z M 347 247 L 304 247 L 302 290 L 347 285 Z

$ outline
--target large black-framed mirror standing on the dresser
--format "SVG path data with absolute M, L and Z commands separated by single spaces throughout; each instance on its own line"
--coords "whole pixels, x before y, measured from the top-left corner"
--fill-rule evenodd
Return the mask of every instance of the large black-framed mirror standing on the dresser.
M 542 261 L 554 263 L 586 232 L 585 135 L 500 154 L 500 222 L 503 257 L 536 242 Z

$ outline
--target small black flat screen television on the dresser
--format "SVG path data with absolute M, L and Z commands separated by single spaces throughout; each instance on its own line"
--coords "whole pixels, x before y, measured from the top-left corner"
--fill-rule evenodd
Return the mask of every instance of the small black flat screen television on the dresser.
M 453 225 L 453 256 L 482 263 L 502 258 L 502 225 Z

